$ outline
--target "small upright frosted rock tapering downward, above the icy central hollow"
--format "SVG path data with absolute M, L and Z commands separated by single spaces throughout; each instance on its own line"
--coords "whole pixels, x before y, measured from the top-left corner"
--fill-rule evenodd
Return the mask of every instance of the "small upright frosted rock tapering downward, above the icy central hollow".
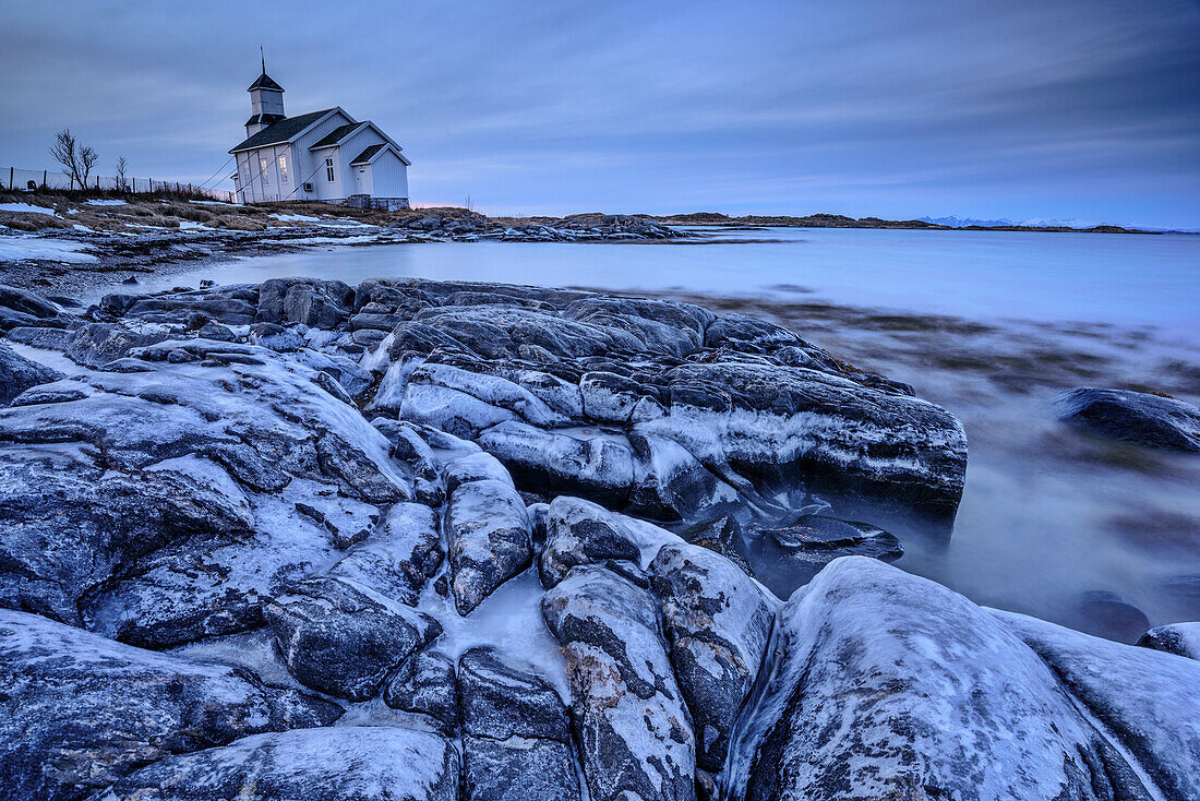
M 451 492 L 446 532 L 450 587 L 460 615 L 470 614 L 533 557 L 524 501 L 496 479 L 469 482 Z

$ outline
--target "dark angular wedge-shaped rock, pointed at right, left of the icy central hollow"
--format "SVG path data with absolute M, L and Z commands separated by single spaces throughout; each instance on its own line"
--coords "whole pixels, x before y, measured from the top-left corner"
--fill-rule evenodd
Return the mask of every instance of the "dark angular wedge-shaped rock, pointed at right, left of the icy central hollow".
M 426 615 L 347 580 L 298 581 L 265 615 L 288 671 L 306 687 L 364 700 L 442 633 Z

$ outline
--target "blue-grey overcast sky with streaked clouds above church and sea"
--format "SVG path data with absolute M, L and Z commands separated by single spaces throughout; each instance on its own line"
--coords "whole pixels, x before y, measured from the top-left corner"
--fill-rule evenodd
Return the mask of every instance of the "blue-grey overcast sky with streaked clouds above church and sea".
M 1196 0 L 0 0 L 0 166 L 70 125 L 102 172 L 204 180 L 259 43 L 419 204 L 1200 228 Z

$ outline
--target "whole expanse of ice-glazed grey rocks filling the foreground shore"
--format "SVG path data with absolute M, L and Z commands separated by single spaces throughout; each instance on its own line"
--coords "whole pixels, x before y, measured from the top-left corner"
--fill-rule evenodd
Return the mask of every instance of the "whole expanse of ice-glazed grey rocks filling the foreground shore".
M 948 527 L 962 426 L 780 325 L 288 279 L 0 330 L 8 797 L 1200 795 L 1194 624 L 887 566 L 844 509 Z

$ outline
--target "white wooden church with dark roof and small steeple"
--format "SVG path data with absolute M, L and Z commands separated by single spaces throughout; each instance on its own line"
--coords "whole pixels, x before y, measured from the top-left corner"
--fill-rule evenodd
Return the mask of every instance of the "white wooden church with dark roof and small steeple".
M 246 139 L 233 148 L 241 203 L 324 201 L 364 208 L 408 208 L 402 148 L 371 120 L 341 107 L 298 116 L 283 113 L 283 86 L 266 74 L 250 85 Z

